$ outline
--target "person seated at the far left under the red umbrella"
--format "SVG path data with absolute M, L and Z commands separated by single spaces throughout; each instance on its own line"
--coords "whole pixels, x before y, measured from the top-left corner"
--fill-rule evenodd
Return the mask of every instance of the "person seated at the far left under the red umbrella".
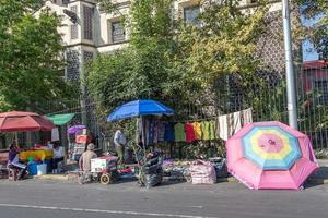
M 11 169 L 19 169 L 17 179 L 22 179 L 26 172 L 26 165 L 20 162 L 19 158 L 20 149 L 15 144 L 11 144 L 9 146 L 9 154 L 8 154 L 8 168 Z

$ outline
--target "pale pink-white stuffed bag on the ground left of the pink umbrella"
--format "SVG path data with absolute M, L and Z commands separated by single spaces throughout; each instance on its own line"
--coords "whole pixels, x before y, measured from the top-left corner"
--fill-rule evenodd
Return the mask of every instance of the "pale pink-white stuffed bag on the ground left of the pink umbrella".
M 216 173 L 210 161 L 195 160 L 189 167 L 192 184 L 214 184 Z

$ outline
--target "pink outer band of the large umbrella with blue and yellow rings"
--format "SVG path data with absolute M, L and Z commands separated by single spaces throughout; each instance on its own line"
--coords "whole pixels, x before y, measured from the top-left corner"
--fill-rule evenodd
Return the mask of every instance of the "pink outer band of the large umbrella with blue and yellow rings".
M 298 158 L 290 170 L 262 170 L 253 160 L 243 157 L 242 138 L 253 126 L 278 125 L 290 134 L 298 137 L 302 157 Z M 276 142 L 279 144 L 280 142 Z M 260 122 L 247 124 L 226 142 L 227 169 L 236 179 L 249 189 L 291 189 L 298 190 L 306 179 L 318 169 L 309 138 L 290 126 L 279 122 Z M 279 149 L 271 146 L 263 149 Z

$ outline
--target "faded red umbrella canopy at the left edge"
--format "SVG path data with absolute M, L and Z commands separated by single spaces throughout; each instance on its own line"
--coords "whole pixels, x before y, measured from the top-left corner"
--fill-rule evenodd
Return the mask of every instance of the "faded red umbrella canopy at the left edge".
M 34 112 L 0 113 L 0 132 L 51 131 L 54 128 L 50 120 Z

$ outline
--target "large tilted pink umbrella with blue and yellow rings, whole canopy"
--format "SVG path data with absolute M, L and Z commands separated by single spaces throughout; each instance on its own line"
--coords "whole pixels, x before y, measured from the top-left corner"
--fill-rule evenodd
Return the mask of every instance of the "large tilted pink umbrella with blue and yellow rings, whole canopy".
M 298 190 L 318 169 L 309 138 L 280 122 L 245 125 L 226 142 L 227 169 L 249 189 Z

